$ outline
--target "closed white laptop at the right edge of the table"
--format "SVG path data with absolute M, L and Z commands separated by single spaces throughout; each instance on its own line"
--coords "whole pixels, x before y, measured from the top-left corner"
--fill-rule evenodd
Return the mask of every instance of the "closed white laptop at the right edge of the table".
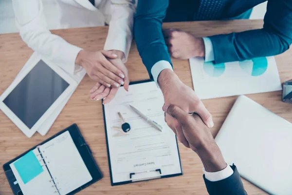
M 215 140 L 240 176 L 269 194 L 292 195 L 292 123 L 240 96 Z

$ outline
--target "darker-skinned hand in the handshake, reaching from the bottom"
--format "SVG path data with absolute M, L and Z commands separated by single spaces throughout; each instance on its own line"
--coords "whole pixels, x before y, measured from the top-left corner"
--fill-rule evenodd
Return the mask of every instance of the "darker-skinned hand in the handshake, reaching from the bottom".
M 190 148 L 200 156 L 207 172 L 218 172 L 226 168 L 218 145 L 199 115 L 189 115 L 178 106 L 169 104 L 165 104 L 163 110 L 182 125 L 185 139 Z

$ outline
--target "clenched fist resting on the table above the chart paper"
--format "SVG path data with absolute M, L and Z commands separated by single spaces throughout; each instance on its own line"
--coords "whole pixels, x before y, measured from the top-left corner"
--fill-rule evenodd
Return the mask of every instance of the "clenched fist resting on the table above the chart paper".
M 177 30 L 163 31 L 169 54 L 177 59 L 190 59 L 205 56 L 205 45 L 202 38 Z

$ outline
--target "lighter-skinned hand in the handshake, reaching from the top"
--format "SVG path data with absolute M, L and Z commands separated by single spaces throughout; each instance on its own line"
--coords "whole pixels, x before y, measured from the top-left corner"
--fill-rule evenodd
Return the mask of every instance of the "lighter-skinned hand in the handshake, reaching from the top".
M 211 114 L 197 97 L 194 90 L 183 84 L 173 71 L 164 69 L 158 77 L 158 84 L 164 95 L 165 104 L 177 105 L 186 113 L 197 113 L 208 127 L 214 126 Z M 190 147 L 183 135 L 181 124 L 167 114 L 165 121 L 183 145 Z

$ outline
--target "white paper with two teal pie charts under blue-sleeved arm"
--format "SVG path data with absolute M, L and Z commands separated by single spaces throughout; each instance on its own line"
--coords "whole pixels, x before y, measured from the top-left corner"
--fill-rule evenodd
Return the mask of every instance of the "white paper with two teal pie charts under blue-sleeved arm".
M 282 90 L 274 57 L 214 64 L 189 59 L 194 90 L 211 99 Z

